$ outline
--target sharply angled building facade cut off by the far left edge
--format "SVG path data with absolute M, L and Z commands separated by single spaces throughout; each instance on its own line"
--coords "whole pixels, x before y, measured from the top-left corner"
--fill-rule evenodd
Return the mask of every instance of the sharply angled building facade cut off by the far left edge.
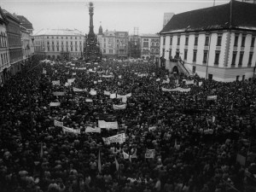
M 0 7 L 0 85 L 10 77 L 7 25 L 8 21 Z

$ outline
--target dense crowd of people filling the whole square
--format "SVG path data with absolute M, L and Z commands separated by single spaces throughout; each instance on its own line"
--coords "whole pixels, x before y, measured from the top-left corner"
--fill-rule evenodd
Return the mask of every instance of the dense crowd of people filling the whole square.
M 0 191 L 254 191 L 253 79 L 186 77 L 153 62 L 31 64 L 0 88 Z M 99 120 L 119 128 L 86 132 Z M 121 133 L 124 143 L 102 139 Z

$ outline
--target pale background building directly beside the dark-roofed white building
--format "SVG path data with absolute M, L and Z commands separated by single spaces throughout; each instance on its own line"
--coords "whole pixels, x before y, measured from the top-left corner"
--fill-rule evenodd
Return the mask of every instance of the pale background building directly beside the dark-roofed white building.
M 141 36 L 141 48 L 141 58 L 154 60 L 155 57 L 159 57 L 160 36 L 157 34 L 143 34 Z

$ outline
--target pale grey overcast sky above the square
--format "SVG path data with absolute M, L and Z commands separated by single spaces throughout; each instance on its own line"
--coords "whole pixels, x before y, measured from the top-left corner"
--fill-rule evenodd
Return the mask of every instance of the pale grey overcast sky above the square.
M 24 15 L 32 22 L 34 32 L 42 28 L 69 28 L 89 32 L 87 0 L 1 0 L 2 9 Z M 163 26 L 164 13 L 179 14 L 213 6 L 214 0 L 94 0 L 94 32 L 102 22 L 103 32 L 125 31 L 156 33 Z M 215 0 L 215 5 L 230 0 Z M 212 15 L 214 16 L 214 15 Z

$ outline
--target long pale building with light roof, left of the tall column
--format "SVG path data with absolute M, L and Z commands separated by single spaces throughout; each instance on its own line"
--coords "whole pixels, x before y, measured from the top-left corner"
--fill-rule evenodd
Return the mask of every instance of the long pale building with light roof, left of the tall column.
M 42 29 L 33 38 L 35 54 L 42 59 L 83 57 L 84 35 L 77 29 Z

